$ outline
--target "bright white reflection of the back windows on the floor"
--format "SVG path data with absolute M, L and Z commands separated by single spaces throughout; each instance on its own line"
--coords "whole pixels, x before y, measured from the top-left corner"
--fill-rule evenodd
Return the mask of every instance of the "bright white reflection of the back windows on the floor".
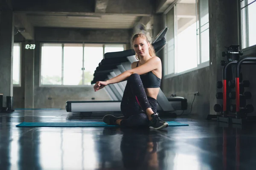
M 40 135 L 40 163 L 42 169 L 96 169 L 97 155 L 94 134 L 60 128 L 60 132 L 50 130 Z

